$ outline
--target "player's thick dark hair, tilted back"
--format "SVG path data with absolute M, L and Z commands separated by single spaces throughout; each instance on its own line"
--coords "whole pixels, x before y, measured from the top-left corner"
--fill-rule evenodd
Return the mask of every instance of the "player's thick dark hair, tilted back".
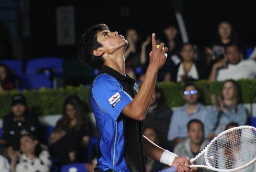
M 102 47 L 97 41 L 97 34 L 102 30 L 109 30 L 106 24 L 96 24 L 88 29 L 84 35 L 82 35 L 79 42 L 78 57 L 85 65 L 91 66 L 95 69 L 101 69 L 104 64 L 102 56 L 94 56 L 93 50 Z

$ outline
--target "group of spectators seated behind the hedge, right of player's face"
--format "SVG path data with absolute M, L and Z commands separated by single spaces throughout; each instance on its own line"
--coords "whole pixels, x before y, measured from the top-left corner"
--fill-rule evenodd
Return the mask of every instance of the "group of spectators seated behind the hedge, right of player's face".
M 165 39 L 157 39 L 157 44 L 163 42 L 168 47 L 168 57 L 158 72 L 158 82 L 255 78 L 255 53 L 246 57 L 246 47 L 239 41 L 229 21 L 218 24 L 216 38 L 209 40 L 209 45 L 205 45 L 204 50 L 199 50 L 191 42 L 182 43 L 178 27 L 173 24 L 167 25 L 163 32 Z M 139 33 L 133 28 L 127 30 L 125 38 L 129 43 L 125 52 L 127 74 L 141 82 L 148 64 L 147 54 L 151 51 L 150 37 L 145 41 L 141 40 Z

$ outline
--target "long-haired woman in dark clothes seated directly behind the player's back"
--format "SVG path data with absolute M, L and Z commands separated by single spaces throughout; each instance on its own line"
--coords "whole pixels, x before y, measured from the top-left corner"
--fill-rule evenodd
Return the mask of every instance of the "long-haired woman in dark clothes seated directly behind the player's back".
M 85 112 L 82 101 L 76 95 L 66 98 L 63 116 L 50 135 L 50 153 L 58 158 L 59 167 L 64 164 L 85 161 L 85 149 L 94 127 Z

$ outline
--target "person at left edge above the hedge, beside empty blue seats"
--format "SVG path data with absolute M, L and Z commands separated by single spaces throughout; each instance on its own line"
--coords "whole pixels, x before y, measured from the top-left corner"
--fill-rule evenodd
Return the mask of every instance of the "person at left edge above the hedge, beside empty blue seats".
M 14 77 L 7 65 L 0 64 L 0 93 L 15 89 Z

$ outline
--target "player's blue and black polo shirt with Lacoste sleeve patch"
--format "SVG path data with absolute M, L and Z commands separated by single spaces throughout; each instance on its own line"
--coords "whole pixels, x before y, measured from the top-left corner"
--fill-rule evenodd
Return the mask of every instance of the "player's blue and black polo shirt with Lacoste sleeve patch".
M 138 92 L 135 80 L 103 66 L 92 83 L 91 107 L 98 129 L 98 168 L 144 172 L 142 121 L 122 114 Z

